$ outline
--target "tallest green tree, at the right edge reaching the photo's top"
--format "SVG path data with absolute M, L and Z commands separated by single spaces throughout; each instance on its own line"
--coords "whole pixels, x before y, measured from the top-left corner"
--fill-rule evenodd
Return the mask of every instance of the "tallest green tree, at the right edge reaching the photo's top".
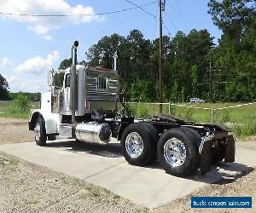
M 219 101 L 256 98 L 256 3 L 251 0 L 211 0 L 212 20 L 224 33 L 214 51 L 215 87 Z

